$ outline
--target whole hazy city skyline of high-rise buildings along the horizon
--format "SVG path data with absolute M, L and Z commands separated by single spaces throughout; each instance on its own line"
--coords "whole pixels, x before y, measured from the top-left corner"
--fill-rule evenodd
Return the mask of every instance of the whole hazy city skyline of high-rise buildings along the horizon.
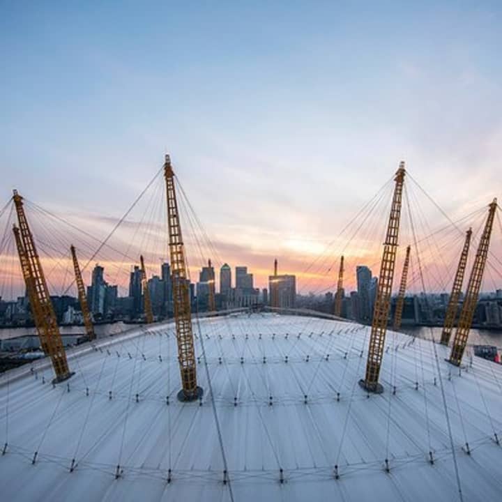
M 342 317 L 361 324 L 371 324 L 374 303 L 377 296 L 378 278 L 369 267 L 356 267 L 356 291 L 343 292 Z M 296 276 L 277 274 L 268 277 L 268 288 L 254 287 L 254 276 L 247 266 L 236 266 L 234 270 L 223 264 L 219 273 L 208 262 L 199 271 L 194 284 L 187 280 L 190 303 L 193 312 L 211 310 L 212 289 L 216 310 L 240 307 L 270 305 L 279 308 L 308 307 L 333 313 L 333 293 L 325 296 L 297 296 Z M 172 277 L 169 263 L 162 263 L 158 274 L 148 277 L 153 316 L 155 319 L 173 317 Z M 139 266 L 132 266 L 127 296 L 119 296 L 119 287 L 105 280 L 105 269 L 96 265 L 91 273 L 91 284 L 87 287 L 87 301 L 94 321 L 142 321 L 144 320 L 144 281 Z M 61 324 L 82 323 L 82 312 L 77 298 L 73 296 L 51 296 L 56 316 Z M 407 294 L 402 312 L 403 326 L 441 326 L 448 306 L 449 295 Z M 460 298 L 462 301 L 462 296 Z M 396 297 L 391 299 L 389 319 L 393 319 Z M 31 324 L 31 311 L 27 296 L 13 301 L 0 298 L 0 326 L 25 326 Z M 478 327 L 502 327 L 502 290 L 494 294 L 481 294 L 474 314 L 473 323 Z

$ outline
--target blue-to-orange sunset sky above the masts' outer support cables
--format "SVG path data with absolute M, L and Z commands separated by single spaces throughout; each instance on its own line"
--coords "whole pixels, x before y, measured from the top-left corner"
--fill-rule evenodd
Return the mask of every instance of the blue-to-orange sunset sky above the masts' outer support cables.
M 0 201 L 102 235 L 169 152 L 222 261 L 301 275 L 400 160 L 453 219 L 502 197 L 501 26 L 482 1 L 0 0 Z

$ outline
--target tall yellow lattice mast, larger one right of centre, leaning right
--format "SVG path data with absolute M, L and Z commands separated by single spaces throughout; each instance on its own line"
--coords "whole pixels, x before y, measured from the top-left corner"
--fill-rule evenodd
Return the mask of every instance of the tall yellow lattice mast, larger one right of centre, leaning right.
M 379 383 L 380 366 L 383 358 L 383 346 L 387 332 L 388 314 L 390 309 L 390 294 L 392 293 L 395 257 L 401 219 L 402 191 L 404 185 L 404 162 L 400 162 L 394 181 L 394 195 L 387 226 L 386 240 L 383 243 L 380 275 L 377 288 L 377 298 L 373 311 L 373 322 L 370 336 L 370 347 L 366 363 L 366 375 L 359 385 L 368 392 L 382 393 Z

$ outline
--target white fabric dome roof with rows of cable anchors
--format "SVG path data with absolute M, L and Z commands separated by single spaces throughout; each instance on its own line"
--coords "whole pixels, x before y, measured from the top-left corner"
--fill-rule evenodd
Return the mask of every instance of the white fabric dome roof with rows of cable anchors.
M 388 332 L 385 392 L 368 396 L 358 386 L 367 326 L 275 314 L 199 326 L 207 360 L 206 367 L 197 335 L 201 403 L 176 400 L 172 324 L 75 349 L 69 392 L 66 382 L 52 387 L 46 360 L 33 363 L 33 374 L 29 367 L 3 374 L 3 498 L 459 500 L 456 462 L 464 500 L 500 499 L 502 366 L 466 356 L 459 372 L 444 360 L 446 347 Z M 194 328 L 199 333 L 197 322 Z

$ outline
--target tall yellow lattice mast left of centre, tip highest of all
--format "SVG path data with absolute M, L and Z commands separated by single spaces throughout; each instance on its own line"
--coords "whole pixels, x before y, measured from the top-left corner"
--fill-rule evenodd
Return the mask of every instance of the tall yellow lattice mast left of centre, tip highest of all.
M 178 400 L 193 401 L 201 397 L 204 391 L 197 386 L 197 367 L 195 365 L 185 247 L 181 235 L 178 202 L 176 201 L 174 172 L 169 155 L 165 156 L 164 176 L 167 193 L 167 227 L 169 229 L 174 319 L 176 322 L 176 340 L 178 342 L 178 361 L 182 386 L 178 392 Z

